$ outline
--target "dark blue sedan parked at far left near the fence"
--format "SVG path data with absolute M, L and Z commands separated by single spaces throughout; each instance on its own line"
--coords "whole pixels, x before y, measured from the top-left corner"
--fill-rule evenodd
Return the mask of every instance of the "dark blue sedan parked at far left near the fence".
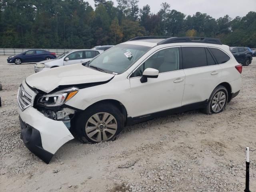
M 7 58 L 8 63 L 22 64 L 39 62 L 43 60 L 50 60 L 56 58 L 54 52 L 49 52 L 41 49 L 31 49 L 23 53 L 12 55 Z

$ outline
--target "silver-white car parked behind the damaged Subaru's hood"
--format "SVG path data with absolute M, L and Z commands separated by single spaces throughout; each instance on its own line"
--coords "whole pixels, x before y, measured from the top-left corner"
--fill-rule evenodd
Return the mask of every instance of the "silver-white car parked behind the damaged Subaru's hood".
M 76 63 L 83 63 L 91 60 L 91 58 L 94 58 L 98 54 L 102 53 L 104 51 L 102 50 L 91 50 L 91 49 L 83 49 L 83 50 L 72 50 L 67 51 L 55 59 L 51 60 L 44 60 L 41 62 L 38 62 L 34 70 L 35 72 L 40 72 L 42 70 L 48 70 L 50 68 L 54 67 L 60 67 L 60 66 L 66 66 Z

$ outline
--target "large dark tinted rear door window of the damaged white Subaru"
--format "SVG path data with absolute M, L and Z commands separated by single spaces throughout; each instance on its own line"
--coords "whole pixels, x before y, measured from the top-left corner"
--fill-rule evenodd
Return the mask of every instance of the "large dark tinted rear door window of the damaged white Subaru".
M 207 66 L 204 47 L 182 47 L 183 68 Z

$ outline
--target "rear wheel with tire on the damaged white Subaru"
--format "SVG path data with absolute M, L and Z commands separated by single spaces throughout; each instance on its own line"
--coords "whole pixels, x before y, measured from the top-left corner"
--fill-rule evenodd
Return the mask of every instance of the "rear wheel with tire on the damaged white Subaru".
M 206 108 L 203 112 L 206 114 L 216 114 L 222 112 L 228 102 L 228 90 L 224 86 L 217 86 L 209 99 Z

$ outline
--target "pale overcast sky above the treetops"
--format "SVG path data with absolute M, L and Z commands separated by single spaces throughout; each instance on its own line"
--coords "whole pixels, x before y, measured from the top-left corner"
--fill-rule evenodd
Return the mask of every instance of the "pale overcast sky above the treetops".
M 94 0 L 85 0 L 94 8 Z M 117 6 L 116 0 L 112 0 Z M 162 2 L 171 5 L 171 9 L 180 11 L 186 16 L 196 12 L 207 13 L 213 18 L 223 17 L 228 14 L 231 18 L 245 16 L 249 11 L 256 11 L 256 0 L 139 0 L 139 8 L 150 5 L 151 12 L 157 13 Z

